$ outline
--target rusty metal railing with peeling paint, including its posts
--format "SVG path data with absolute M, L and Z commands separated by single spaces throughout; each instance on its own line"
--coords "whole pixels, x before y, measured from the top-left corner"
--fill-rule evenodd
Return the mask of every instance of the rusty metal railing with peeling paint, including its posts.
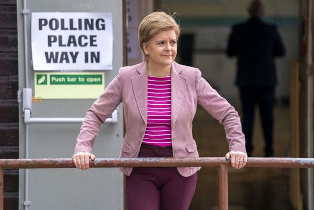
M 96 158 L 91 168 L 116 167 L 217 167 L 218 210 L 228 210 L 228 166 L 225 157 L 198 158 Z M 245 167 L 254 168 L 314 168 L 314 158 L 263 158 L 249 157 Z M 0 159 L 0 210 L 3 210 L 3 170 L 32 168 L 75 168 L 72 159 Z

